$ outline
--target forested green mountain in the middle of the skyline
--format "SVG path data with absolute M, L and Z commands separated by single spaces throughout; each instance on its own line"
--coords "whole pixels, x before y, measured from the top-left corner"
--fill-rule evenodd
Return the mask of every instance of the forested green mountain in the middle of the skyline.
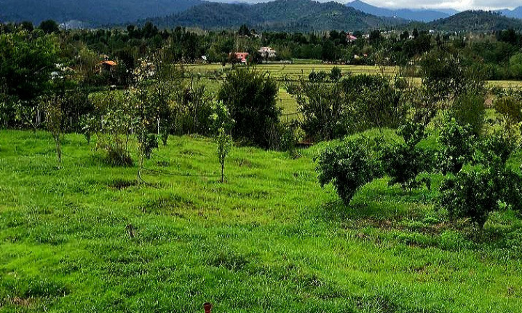
M 358 31 L 395 24 L 404 19 L 377 17 L 337 2 L 276 0 L 266 3 L 203 3 L 167 17 L 148 19 L 159 27 L 198 26 L 224 29 L 246 24 L 271 31 Z

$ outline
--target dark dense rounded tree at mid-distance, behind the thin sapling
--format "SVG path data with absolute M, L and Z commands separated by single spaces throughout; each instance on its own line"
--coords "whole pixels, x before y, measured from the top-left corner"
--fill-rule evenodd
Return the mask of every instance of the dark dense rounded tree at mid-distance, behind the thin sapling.
M 218 99 L 235 120 L 232 136 L 269 147 L 267 134 L 278 123 L 280 115 L 276 102 L 278 92 L 276 81 L 255 69 L 244 68 L 227 74 Z

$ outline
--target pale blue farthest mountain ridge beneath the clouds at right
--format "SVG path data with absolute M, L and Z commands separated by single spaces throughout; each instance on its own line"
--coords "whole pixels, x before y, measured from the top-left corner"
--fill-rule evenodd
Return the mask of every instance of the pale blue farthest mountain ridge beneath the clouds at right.
M 361 10 L 364 13 L 377 15 L 381 17 L 400 17 L 402 19 L 408 19 L 411 21 L 419 21 L 419 22 L 431 22 L 435 19 L 443 19 L 445 17 L 449 17 L 457 13 L 456 10 L 427 10 L 427 9 L 388 9 L 388 8 L 379 8 L 377 6 L 372 6 L 371 4 L 365 3 L 360 0 L 355 0 L 346 4 L 351 8 L 356 8 L 357 10 Z

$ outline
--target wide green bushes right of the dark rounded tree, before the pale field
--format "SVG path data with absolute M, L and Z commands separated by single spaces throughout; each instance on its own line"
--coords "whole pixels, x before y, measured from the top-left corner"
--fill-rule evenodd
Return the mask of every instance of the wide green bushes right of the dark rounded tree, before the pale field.
M 338 82 L 317 79 L 287 83 L 303 115 L 301 128 L 314 141 L 342 138 L 372 127 L 397 127 L 406 117 L 402 80 L 349 75 Z M 310 74 L 310 76 L 312 76 Z

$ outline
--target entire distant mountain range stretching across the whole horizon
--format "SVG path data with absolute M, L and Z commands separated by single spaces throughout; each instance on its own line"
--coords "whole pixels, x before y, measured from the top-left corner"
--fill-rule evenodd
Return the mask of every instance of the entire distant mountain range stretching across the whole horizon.
M 224 0 L 219 0 L 224 1 Z M 451 16 L 450 16 L 451 15 Z M 509 17 L 508 17 L 509 16 Z M 395 27 L 444 31 L 521 29 L 522 7 L 514 10 L 390 10 L 356 0 L 347 5 L 313 0 L 223 3 L 202 0 L 0 0 L 0 22 L 54 19 L 65 27 L 144 24 L 202 29 L 239 28 L 260 31 L 364 31 Z M 411 24 L 409 24 L 411 22 Z

